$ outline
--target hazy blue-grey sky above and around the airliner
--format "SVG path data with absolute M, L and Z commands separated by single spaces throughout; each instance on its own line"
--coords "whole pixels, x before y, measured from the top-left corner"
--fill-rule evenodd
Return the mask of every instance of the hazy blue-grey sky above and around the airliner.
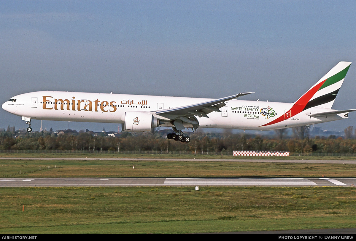
M 2 1 L 1 103 L 40 90 L 294 102 L 355 60 L 355 1 Z M 355 64 L 355 63 L 354 63 Z M 335 109 L 356 108 L 351 65 Z M 355 126 L 350 119 L 319 125 Z M 0 127 L 25 128 L 0 110 Z M 36 130 L 40 121 L 33 122 Z M 116 124 L 43 121 L 48 129 Z

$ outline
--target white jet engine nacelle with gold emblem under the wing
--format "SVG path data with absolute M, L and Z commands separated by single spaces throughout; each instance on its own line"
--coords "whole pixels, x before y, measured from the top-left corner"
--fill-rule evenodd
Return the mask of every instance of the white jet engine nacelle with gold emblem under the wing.
M 158 126 L 159 120 L 149 112 L 127 111 L 125 112 L 125 124 L 123 131 L 142 132 L 151 131 Z

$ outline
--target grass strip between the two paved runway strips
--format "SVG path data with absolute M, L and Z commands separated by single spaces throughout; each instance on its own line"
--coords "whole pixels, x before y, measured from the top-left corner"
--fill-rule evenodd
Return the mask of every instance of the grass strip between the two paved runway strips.
M 0 160 L 0 177 L 322 177 L 323 175 L 324 177 L 356 177 L 356 164 L 258 163 L 253 160 L 251 162 Z

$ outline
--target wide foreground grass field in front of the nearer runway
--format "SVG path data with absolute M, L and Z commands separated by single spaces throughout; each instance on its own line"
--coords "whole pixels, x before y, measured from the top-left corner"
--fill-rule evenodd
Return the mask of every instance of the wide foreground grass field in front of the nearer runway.
M 352 187 L 1 188 L 0 231 L 171 234 L 354 228 L 355 195 Z

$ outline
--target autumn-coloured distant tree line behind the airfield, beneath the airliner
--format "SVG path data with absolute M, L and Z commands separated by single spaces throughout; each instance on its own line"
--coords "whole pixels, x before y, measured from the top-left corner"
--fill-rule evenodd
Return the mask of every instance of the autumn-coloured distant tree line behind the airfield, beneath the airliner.
M 189 133 L 189 143 L 169 140 L 171 130 L 151 132 L 122 132 L 117 137 L 106 133 L 95 135 L 92 131 L 66 130 L 61 135 L 41 131 L 19 133 L 15 127 L 0 131 L 0 149 L 12 150 L 115 150 L 115 151 L 185 151 L 196 154 L 220 154 L 233 150 L 278 150 L 290 152 L 356 153 L 353 127 L 345 129 L 345 138 L 335 136 L 309 137 L 307 127 L 293 129 L 293 137 L 285 139 L 284 130 L 276 130 L 274 136 L 224 133 Z M 350 134 L 351 132 L 351 134 Z

